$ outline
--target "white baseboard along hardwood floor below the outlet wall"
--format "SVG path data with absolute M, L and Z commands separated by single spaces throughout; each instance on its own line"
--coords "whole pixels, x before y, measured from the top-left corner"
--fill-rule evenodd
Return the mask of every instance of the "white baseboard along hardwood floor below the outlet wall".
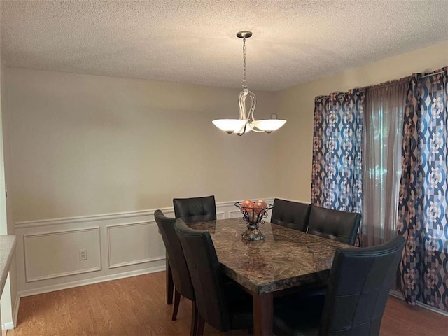
M 113 280 L 118 280 L 118 279 L 125 279 L 125 278 L 130 278 L 131 276 L 138 276 L 138 275 L 144 275 L 144 274 L 150 274 L 150 273 L 156 273 L 156 272 L 162 272 L 162 271 L 165 271 L 165 265 L 151 267 L 151 268 L 145 268 L 145 269 L 139 269 L 137 271 L 123 272 L 123 273 L 111 274 L 111 275 L 106 275 L 106 276 L 98 276 L 98 277 L 92 278 L 92 279 L 60 283 L 60 284 L 57 284 L 54 286 L 46 286 L 46 287 L 41 287 L 41 288 L 36 288 L 36 289 L 22 290 L 18 293 L 18 295 L 20 297 L 26 297 L 26 296 L 30 296 L 30 295 L 50 293 L 50 292 L 54 292 L 55 290 L 75 288 L 75 287 L 80 287 L 80 286 L 91 285 L 92 283 L 100 283 L 100 282 L 113 281 Z

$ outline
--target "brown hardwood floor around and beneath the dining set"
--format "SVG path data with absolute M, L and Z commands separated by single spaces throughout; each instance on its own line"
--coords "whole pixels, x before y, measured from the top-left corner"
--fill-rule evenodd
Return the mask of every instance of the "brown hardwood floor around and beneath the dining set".
M 18 326 L 7 336 L 189 335 L 190 310 L 190 301 L 182 298 L 177 321 L 171 321 L 165 272 L 159 272 L 22 297 Z M 447 336 L 447 330 L 448 317 L 390 297 L 381 336 Z M 204 335 L 223 334 L 206 324 Z

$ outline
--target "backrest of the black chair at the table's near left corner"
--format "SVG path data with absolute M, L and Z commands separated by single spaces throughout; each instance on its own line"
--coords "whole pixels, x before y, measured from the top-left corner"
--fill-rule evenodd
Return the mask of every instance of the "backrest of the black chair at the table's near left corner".
M 195 288 L 197 310 L 214 328 L 223 332 L 230 330 L 228 303 L 223 295 L 223 273 L 210 233 L 188 228 L 181 218 L 177 219 L 175 228 Z

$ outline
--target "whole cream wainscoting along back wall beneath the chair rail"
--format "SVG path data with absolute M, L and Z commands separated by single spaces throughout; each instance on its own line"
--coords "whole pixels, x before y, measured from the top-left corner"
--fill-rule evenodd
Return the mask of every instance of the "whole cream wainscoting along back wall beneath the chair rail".
M 235 202 L 216 203 L 216 218 L 242 217 Z M 174 217 L 172 207 L 161 210 Z M 15 223 L 19 297 L 165 269 L 165 246 L 154 211 Z M 87 260 L 80 261 L 82 248 Z

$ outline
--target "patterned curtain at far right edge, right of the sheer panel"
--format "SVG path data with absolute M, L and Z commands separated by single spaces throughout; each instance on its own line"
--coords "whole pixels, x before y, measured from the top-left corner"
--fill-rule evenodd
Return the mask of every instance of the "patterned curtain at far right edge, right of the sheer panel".
M 448 77 L 414 75 L 402 143 L 398 232 L 407 239 L 400 265 L 410 304 L 448 311 Z

